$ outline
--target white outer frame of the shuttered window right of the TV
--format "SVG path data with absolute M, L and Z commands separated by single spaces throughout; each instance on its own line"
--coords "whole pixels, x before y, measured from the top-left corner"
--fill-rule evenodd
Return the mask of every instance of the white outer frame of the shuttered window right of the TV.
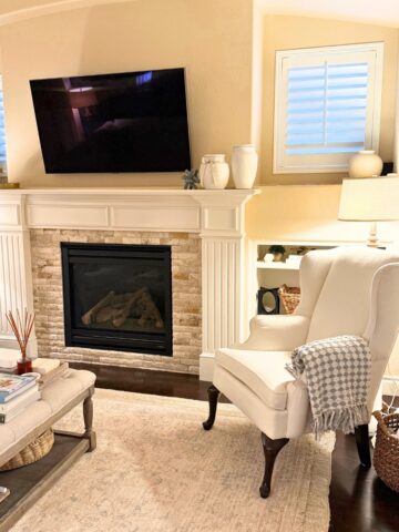
M 287 117 L 287 91 L 288 85 L 285 84 L 288 65 L 285 62 L 303 60 L 304 65 L 309 60 L 325 60 L 331 55 L 350 55 L 359 53 L 374 53 L 374 72 L 371 76 L 372 86 L 368 89 L 368 95 L 371 102 L 367 104 L 367 112 L 371 119 L 371 134 L 366 139 L 362 150 L 379 150 L 380 136 L 380 116 L 382 100 L 382 72 L 383 72 L 383 42 L 370 42 L 361 44 L 339 44 L 332 47 L 303 48 L 295 50 L 276 51 L 275 63 L 275 106 L 274 106 L 274 139 L 273 139 L 273 173 L 274 174 L 324 174 L 324 173 L 345 173 L 348 170 L 346 163 L 327 163 L 328 154 L 325 154 L 326 162 L 324 164 L 306 164 L 308 155 L 304 157 L 304 164 L 300 166 L 290 166 L 285 161 L 285 132 Z M 344 63 L 344 61 L 342 61 Z M 370 64 L 370 61 L 369 61 Z M 371 111 L 369 110 L 371 106 Z M 368 124 L 368 123 L 367 123 Z M 366 131 L 368 125 L 366 124 Z M 321 157 L 320 157 L 321 158 Z M 335 157 L 337 158 L 337 157 Z M 334 161 L 334 157 L 332 160 Z

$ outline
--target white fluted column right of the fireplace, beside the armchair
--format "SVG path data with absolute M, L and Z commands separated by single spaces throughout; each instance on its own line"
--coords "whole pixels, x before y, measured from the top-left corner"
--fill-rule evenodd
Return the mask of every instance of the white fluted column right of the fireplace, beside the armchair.
M 212 380 L 214 354 L 243 340 L 245 314 L 245 204 L 257 191 L 202 194 L 203 352 L 200 378 Z

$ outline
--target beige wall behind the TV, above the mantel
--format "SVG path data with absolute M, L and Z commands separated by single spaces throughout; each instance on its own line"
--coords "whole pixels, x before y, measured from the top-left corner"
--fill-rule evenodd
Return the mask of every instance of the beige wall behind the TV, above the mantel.
M 250 137 L 250 0 L 140 0 L 0 28 L 9 178 L 23 186 L 180 186 L 180 174 L 45 175 L 29 80 L 185 66 L 193 166 Z

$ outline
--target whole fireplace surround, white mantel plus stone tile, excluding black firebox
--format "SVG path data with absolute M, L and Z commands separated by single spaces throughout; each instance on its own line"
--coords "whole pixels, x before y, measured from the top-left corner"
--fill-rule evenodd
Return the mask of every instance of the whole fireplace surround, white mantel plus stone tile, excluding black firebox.
M 31 349 L 66 360 L 198 374 L 243 339 L 245 204 L 257 191 L 37 188 L 0 192 L 0 345 L 6 310 L 33 308 Z M 61 242 L 172 246 L 173 357 L 65 348 Z

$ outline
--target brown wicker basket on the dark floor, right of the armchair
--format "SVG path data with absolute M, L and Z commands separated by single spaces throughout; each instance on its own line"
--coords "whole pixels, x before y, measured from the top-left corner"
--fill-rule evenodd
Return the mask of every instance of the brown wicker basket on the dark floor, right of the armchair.
M 393 491 L 399 492 L 399 413 L 374 412 L 378 421 L 374 466 L 378 477 Z

